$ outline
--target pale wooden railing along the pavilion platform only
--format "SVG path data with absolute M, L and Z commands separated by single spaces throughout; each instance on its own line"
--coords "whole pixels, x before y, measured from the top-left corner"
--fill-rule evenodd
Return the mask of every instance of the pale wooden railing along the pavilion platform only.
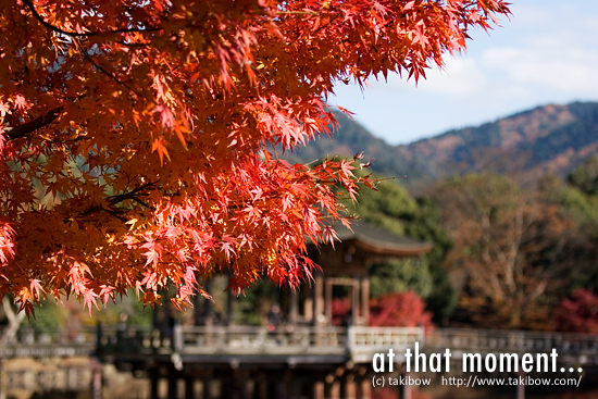
M 196 356 L 345 356 L 365 361 L 393 348 L 404 352 L 423 341 L 423 328 L 174 326 L 172 334 L 151 328 L 102 328 L 100 353 L 171 353 Z

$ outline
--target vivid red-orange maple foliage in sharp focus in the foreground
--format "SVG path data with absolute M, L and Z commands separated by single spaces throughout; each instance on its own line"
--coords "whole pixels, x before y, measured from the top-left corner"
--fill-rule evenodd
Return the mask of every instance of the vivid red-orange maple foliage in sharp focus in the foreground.
M 288 164 L 340 80 L 418 80 L 502 0 L 0 3 L 0 296 L 175 306 L 227 267 L 297 285 L 358 165 Z M 220 267 L 220 269 L 219 269 Z M 174 296 L 173 296 L 174 297 Z

